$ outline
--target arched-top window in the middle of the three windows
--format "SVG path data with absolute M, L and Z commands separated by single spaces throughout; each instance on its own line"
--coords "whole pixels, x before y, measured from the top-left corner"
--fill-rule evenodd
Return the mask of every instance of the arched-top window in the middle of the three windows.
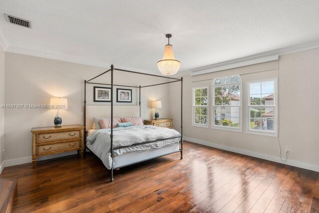
M 241 131 L 241 79 L 239 75 L 213 80 L 212 128 Z

